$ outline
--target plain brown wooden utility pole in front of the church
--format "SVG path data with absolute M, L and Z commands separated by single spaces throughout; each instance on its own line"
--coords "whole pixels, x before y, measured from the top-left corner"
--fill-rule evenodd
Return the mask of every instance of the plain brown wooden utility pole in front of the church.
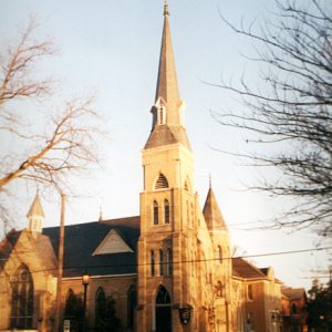
M 58 284 L 56 284 L 54 332 L 60 331 L 60 322 L 61 322 L 61 290 L 62 290 L 61 284 L 62 284 L 62 273 L 63 273 L 64 212 L 65 212 L 65 195 L 61 194 L 61 217 L 60 217 L 60 236 L 59 236 L 59 251 L 58 251 Z

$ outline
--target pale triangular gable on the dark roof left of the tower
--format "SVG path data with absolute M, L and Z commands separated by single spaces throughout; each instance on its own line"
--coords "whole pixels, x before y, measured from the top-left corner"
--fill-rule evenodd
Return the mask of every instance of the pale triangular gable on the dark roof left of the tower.
M 128 247 L 120 234 L 115 229 L 112 229 L 94 250 L 92 256 L 118 252 L 133 252 L 133 250 Z

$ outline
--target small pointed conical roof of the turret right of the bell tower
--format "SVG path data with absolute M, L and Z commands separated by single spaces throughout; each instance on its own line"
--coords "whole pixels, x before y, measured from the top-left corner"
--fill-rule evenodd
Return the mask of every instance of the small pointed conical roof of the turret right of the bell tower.
M 217 198 L 215 196 L 215 193 L 210 186 L 205 205 L 203 208 L 203 215 L 205 217 L 205 221 L 207 224 L 207 227 L 209 230 L 227 230 L 226 222 L 224 220 L 224 217 L 221 215 Z

